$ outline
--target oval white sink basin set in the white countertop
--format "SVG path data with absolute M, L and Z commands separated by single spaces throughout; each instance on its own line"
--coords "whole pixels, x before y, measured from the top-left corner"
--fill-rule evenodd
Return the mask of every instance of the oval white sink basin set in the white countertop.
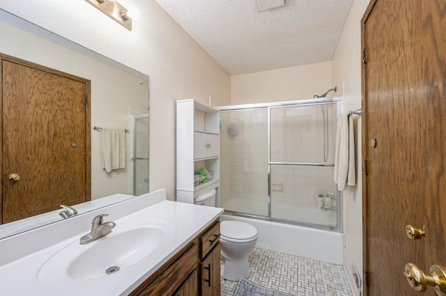
M 109 277 L 150 256 L 167 242 L 167 238 L 169 227 L 160 222 L 122 225 L 116 222 L 107 236 L 86 245 L 76 240 L 59 250 L 42 265 L 38 281 L 50 283 L 59 275 L 74 281 Z

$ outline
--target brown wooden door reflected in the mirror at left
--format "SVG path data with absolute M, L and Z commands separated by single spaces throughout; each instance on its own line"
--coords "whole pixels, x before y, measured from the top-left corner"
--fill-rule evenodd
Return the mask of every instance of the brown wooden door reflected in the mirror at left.
M 1 221 L 90 200 L 90 82 L 0 58 Z M 9 179 L 10 174 L 20 179 Z

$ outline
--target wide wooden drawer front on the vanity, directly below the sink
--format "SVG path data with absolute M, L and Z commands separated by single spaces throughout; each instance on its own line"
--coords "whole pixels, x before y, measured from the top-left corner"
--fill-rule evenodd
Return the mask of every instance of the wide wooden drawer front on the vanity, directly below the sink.
M 194 243 L 137 295 L 172 295 L 187 275 L 197 268 L 197 254 L 198 247 Z

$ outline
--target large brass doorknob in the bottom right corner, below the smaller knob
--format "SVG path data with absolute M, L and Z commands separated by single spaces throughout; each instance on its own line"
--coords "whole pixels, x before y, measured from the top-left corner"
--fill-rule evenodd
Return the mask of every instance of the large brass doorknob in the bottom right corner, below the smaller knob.
M 433 286 L 437 295 L 446 295 L 446 269 L 441 265 L 432 265 L 429 274 L 414 263 L 407 263 L 404 276 L 413 290 L 423 292 L 427 286 Z

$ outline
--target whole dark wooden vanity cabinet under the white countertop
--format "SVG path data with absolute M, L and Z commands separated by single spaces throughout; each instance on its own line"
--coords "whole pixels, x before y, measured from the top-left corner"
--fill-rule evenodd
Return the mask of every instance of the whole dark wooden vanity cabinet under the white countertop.
M 130 295 L 220 295 L 220 222 L 215 220 Z

